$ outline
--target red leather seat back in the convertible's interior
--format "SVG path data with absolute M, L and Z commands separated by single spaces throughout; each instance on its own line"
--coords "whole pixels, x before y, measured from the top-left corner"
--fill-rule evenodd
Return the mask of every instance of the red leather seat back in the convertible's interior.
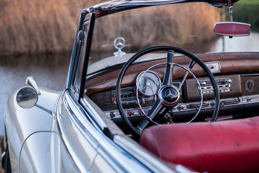
M 199 172 L 259 172 L 259 117 L 152 126 L 140 144 Z

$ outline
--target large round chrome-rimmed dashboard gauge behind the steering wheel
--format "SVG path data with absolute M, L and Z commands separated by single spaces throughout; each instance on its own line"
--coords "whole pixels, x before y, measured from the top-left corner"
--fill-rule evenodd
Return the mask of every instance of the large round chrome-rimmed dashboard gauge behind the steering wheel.
M 153 96 L 157 94 L 158 89 L 161 86 L 161 80 L 157 74 L 153 71 L 141 72 L 137 79 L 136 85 L 138 85 L 138 92 L 143 96 Z M 140 81 L 140 82 L 139 82 Z

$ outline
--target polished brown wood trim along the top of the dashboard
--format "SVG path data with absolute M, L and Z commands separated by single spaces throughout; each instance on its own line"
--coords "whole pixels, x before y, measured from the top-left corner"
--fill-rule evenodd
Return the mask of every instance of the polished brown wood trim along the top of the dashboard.
M 204 62 L 220 61 L 220 74 L 259 71 L 259 53 L 208 53 L 198 54 L 196 56 Z M 190 60 L 191 59 L 186 56 L 175 57 L 174 63 L 188 67 Z M 160 59 L 130 66 L 123 78 L 122 86 L 134 85 L 135 79 L 140 72 L 152 65 L 165 61 L 165 59 Z M 152 71 L 158 74 L 160 79 L 163 79 L 165 65 L 155 67 Z M 87 81 L 85 83 L 85 89 L 87 89 L 86 94 L 92 95 L 97 92 L 115 88 L 119 72 L 120 70 L 114 70 Z M 196 77 L 205 75 L 204 70 L 202 70 L 198 64 L 194 65 L 191 72 Z M 185 70 L 174 68 L 173 73 L 173 78 L 183 78 Z

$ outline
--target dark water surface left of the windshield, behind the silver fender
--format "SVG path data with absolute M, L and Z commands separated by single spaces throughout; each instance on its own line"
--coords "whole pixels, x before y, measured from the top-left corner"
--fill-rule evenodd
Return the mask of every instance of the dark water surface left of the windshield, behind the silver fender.
M 40 87 L 65 88 L 71 54 L 0 57 L 0 135 L 4 134 L 3 113 L 9 95 L 25 86 L 32 76 Z

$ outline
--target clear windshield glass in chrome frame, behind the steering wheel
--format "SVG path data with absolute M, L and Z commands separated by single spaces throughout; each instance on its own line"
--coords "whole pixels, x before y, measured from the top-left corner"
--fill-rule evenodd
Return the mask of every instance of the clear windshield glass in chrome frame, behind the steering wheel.
M 244 17 L 258 13 L 258 9 L 244 5 L 248 2 L 255 1 L 241 1 L 233 6 L 233 21 L 249 23 L 249 18 Z M 176 46 L 191 53 L 258 51 L 259 34 L 253 32 L 253 25 L 250 36 L 214 35 L 214 23 L 223 21 L 229 21 L 227 8 L 205 3 L 145 7 L 96 19 L 87 74 L 126 62 L 140 50 L 158 45 Z M 159 52 L 138 61 L 165 57 L 166 53 Z

